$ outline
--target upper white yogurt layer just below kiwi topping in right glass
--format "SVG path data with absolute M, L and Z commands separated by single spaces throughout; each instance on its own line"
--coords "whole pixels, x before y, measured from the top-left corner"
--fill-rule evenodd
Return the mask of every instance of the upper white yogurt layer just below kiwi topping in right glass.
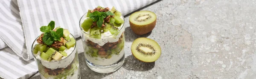
M 120 17 L 120 18 L 122 18 L 122 20 L 123 20 L 123 17 Z M 87 18 L 85 18 L 85 19 L 87 19 Z M 122 33 L 125 31 L 124 27 L 122 27 L 123 25 L 124 25 L 124 23 L 122 23 L 122 25 L 118 27 L 118 29 L 121 29 L 121 28 L 122 28 L 122 29 L 119 31 L 119 34 L 118 34 L 118 35 L 112 35 L 112 34 L 110 33 L 110 31 L 108 31 L 108 32 L 102 33 L 100 39 L 90 37 L 90 36 L 88 35 L 88 34 L 90 34 L 90 30 L 85 31 L 86 33 L 84 33 L 84 32 L 82 32 L 82 33 L 84 33 L 83 36 L 84 36 L 86 42 L 87 42 L 87 40 L 90 40 L 90 41 L 92 41 L 92 42 L 94 42 L 94 43 L 99 44 L 100 46 L 103 46 L 103 45 L 104 45 L 105 43 L 107 43 L 107 42 L 117 42 L 117 41 L 119 40 L 119 37 L 120 37 L 120 36 L 122 35 Z M 112 36 L 111 36 L 111 35 L 112 35 Z M 110 36 L 110 37 L 106 37 L 106 36 Z

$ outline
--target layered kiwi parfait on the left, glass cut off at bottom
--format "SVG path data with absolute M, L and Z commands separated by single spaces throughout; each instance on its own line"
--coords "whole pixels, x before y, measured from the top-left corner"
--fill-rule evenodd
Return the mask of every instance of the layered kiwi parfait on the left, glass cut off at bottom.
M 76 39 L 67 29 L 54 29 L 54 25 L 51 21 L 42 26 L 44 33 L 32 44 L 41 79 L 81 79 Z

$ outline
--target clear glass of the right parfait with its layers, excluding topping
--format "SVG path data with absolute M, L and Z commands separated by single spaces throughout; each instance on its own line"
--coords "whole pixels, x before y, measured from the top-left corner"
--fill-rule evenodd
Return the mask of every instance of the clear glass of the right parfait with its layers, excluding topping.
M 125 58 L 124 23 L 115 34 L 101 38 L 93 37 L 81 27 L 84 20 L 88 18 L 86 14 L 79 21 L 86 64 L 91 70 L 98 73 L 110 73 L 118 70 L 124 63 Z M 123 16 L 120 18 L 124 20 Z

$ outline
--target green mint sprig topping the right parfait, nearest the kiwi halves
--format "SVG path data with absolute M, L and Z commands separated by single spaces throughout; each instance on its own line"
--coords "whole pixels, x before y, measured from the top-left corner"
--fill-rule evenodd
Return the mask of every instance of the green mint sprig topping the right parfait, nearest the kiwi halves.
M 89 15 L 89 18 L 93 19 L 93 22 L 97 21 L 97 26 L 100 28 L 102 27 L 104 18 L 109 15 L 114 15 L 114 14 L 111 13 L 110 11 L 107 11 L 107 12 L 94 11 Z

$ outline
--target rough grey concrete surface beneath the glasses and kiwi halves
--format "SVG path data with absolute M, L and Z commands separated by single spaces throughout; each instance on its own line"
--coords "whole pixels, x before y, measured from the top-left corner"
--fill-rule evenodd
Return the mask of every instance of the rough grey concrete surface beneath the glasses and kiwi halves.
M 125 17 L 125 63 L 118 71 L 91 71 L 78 40 L 82 79 L 256 79 L 256 5 L 251 0 L 162 0 L 142 10 L 157 14 L 151 33 L 135 35 Z M 131 55 L 131 44 L 148 37 L 162 54 L 153 63 Z M 39 79 L 36 74 L 32 79 Z

